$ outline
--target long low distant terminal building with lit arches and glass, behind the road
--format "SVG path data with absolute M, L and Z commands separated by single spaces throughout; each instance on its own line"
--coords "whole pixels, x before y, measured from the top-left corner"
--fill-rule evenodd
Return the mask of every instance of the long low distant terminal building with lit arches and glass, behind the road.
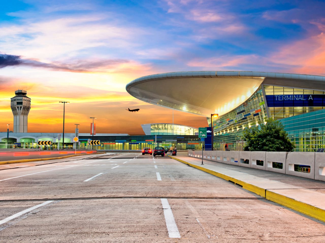
M 95 145 L 94 149 L 131 151 L 141 150 L 144 147 L 154 148 L 155 146 L 167 146 L 169 148 L 173 145 L 178 150 L 187 150 L 199 149 L 201 145 L 197 135 L 197 128 L 170 123 L 143 124 L 142 128 L 146 135 L 96 133 L 94 134 L 94 141 L 98 141 L 98 145 Z M 75 148 L 76 144 L 73 143 L 74 137 L 75 133 L 64 133 L 64 145 L 66 149 Z M 77 148 L 92 148 L 93 146 L 90 145 L 92 138 L 93 136 L 90 133 L 79 133 Z M 0 132 L 0 141 L 0 148 L 6 148 L 6 132 Z M 8 138 L 9 148 L 41 148 L 53 150 L 58 149 L 58 147 L 62 148 L 62 144 L 62 133 L 9 133 Z

